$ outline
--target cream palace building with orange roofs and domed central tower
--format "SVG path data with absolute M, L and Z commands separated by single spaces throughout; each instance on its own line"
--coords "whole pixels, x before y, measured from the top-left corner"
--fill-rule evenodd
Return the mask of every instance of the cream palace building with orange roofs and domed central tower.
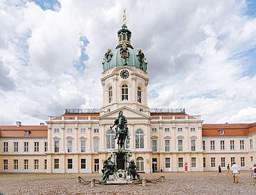
M 118 44 L 102 60 L 102 108 L 66 109 L 46 124 L 0 126 L 1 172 L 101 172 L 117 148 L 113 125 L 119 111 L 127 118 L 138 171 L 217 171 L 236 162 L 249 170 L 256 160 L 256 122 L 203 124 L 185 109 L 149 109 L 147 58 L 134 50 L 126 24 Z M 255 163 L 255 162 L 254 162 Z

